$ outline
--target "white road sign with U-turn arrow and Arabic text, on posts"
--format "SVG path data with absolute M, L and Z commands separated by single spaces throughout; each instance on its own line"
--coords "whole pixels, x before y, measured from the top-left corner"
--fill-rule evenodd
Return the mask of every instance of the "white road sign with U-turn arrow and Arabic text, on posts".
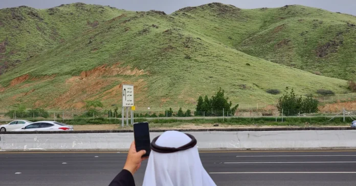
M 128 126 L 128 109 L 131 108 L 131 124 L 133 124 L 133 114 L 132 107 L 135 104 L 133 103 L 133 85 L 122 85 L 122 123 L 121 126 L 124 126 L 124 108 L 126 108 L 126 126 Z

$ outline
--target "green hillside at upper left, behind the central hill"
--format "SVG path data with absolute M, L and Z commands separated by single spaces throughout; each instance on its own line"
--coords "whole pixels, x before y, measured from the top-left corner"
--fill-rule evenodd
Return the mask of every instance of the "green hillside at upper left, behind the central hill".
M 127 11 L 75 3 L 50 9 L 0 10 L 0 74 Z

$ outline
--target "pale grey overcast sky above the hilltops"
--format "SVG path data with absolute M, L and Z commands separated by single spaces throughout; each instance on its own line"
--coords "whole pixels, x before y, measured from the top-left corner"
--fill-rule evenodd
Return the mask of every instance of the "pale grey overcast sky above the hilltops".
M 43 9 L 76 2 L 109 5 L 118 9 L 133 11 L 161 10 L 166 13 L 212 2 L 230 4 L 243 9 L 304 5 L 356 15 L 356 0 L 0 0 L 0 9 L 21 5 Z

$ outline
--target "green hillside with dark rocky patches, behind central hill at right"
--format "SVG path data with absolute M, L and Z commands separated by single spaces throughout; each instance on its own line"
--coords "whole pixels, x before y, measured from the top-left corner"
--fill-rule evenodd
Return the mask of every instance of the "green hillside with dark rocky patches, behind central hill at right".
M 356 75 L 356 17 L 304 6 L 239 9 L 212 3 L 173 16 L 192 33 L 251 56 L 342 79 Z

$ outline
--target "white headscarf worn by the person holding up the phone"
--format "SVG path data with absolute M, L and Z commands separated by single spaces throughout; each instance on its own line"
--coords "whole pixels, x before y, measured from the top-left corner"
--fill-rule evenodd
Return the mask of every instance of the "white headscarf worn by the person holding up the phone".
M 160 147 L 178 148 L 191 138 L 183 132 L 166 131 L 155 142 Z M 196 146 L 173 153 L 151 150 L 143 186 L 216 186 L 204 169 Z

